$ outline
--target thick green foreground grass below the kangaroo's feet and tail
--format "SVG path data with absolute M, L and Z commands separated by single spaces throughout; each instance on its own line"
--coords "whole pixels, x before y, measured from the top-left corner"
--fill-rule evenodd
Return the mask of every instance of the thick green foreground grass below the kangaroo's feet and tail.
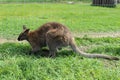
M 52 59 L 27 55 L 29 50 L 25 43 L 0 45 L 1 80 L 119 80 L 119 61 L 82 58 L 66 50 Z

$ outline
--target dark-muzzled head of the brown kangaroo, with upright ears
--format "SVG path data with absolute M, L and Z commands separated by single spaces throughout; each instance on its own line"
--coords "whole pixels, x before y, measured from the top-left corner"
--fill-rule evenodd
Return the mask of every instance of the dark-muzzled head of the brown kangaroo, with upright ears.
M 23 25 L 23 32 L 18 36 L 18 41 L 28 40 L 28 33 L 30 29 L 27 29 L 25 25 Z

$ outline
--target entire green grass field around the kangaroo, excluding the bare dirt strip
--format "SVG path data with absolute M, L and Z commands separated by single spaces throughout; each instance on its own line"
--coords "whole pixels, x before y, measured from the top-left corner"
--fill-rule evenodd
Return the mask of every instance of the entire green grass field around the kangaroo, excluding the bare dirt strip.
M 0 4 L 0 39 L 17 39 L 22 25 L 35 30 L 49 21 L 68 26 L 73 34 L 120 32 L 120 5 L 116 8 L 90 4 Z M 119 37 L 76 38 L 86 52 L 120 56 Z M 120 61 L 83 58 L 66 48 L 56 58 L 46 52 L 28 55 L 28 43 L 0 44 L 0 80 L 120 80 Z

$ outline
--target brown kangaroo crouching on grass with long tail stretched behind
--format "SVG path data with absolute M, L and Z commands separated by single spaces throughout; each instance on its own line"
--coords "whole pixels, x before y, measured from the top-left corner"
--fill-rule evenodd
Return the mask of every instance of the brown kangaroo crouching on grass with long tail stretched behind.
M 32 46 L 31 53 L 38 52 L 42 47 L 48 46 L 49 56 L 55 57 L 57 49 L 70 46 L 72 50 L 83 57 L 103 58 L 108 60 L 119 60 L 117 57 L 103 54 L 89 54 L 81 51 L 75 44 L 74 37 L 70 30 L 61 23 L 48 22 L 34 31 L 23 25 L 23 32 L 20 33 L 18 41 L 27 40 Z

